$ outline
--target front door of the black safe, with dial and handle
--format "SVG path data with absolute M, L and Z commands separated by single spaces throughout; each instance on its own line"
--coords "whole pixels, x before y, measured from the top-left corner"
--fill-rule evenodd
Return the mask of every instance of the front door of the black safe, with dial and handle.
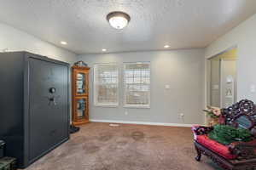
M 68 137 L 68 67 L 29 59 L 29 160 Z

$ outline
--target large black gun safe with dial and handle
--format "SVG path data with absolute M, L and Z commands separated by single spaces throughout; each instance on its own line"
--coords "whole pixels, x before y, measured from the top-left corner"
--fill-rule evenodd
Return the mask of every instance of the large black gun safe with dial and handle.
M 24 168 L 69 139 L 69 65 L 0 53 L 0 139 Z

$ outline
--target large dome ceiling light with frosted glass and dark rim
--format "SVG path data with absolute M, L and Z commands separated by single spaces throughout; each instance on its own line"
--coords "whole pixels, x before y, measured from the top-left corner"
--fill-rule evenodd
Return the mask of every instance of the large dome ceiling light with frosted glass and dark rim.
M 120 30 L 128 25 L 129 21 L 131 20 L 131 17 L 129 16 L 129 14 L 126 14 L 124 12 L 114 11 L 107 15 L 107 20 L 110 26 Z

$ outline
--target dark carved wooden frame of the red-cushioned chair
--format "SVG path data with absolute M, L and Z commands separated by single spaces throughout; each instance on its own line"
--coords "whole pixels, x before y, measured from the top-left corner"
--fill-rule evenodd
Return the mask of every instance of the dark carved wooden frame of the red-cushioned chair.
M 224 116 L 224 124 L 241 127 L 238 122 L 241 116 L 247 118 L 247 128 L 256 137 L 256 105 L 253 101 L 242 99 L 236 104 L 223 109 L 222 115 Z M 248 124 L 249 123 L 249 124 Z M 196 135 L 207 134 L 211 132 L 213 127 L 196 127 L 194 133 Z M 248 144 L 245 142 L 236 142 L 229 145 L 230 152 L 237 156 L 236 160 L 227 160 L 212 150 L 207 149 L 204 145 L 195 140 L 195 150 L 197 151 L 196 161 L 201 161 L 201 154 L 209 156 L 212 161 L 223 167 L 226 170 L 253 170 L 256 169 L 256 143 Z

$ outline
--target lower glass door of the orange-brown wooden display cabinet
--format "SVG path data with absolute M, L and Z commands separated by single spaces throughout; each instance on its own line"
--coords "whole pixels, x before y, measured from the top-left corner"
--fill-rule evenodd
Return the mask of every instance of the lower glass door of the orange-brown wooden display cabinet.
M 77 120 L 88 119 L 88 98 L 84 97 L 75 100 L 75 113 Z

